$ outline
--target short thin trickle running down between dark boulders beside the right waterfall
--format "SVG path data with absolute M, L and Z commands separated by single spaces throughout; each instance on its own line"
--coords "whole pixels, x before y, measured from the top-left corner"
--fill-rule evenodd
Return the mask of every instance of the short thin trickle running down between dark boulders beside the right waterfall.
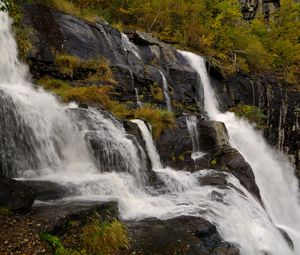
M 199 133 L 197 128 L 197 117 L 195 116 L 186 117 L 186 125 L 193 145 L 192 159 L 196 160 L 201 158 L 205 154 L 200 150 Z

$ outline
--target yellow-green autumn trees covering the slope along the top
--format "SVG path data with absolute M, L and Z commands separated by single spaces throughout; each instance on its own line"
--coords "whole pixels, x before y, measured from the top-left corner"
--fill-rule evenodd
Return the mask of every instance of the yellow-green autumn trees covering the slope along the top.
M 102 18 L 120 28 L 154 33 L 181 48 L 210 56 L 224 73 L 275 68 L 290 82 L 297 82 L 300 73 L 300 4 L 294 0 L 281 0 L 269 27 L 262 15 L 252 22 L 242 20 L 237 0 L 48 2 L 90 21 Z

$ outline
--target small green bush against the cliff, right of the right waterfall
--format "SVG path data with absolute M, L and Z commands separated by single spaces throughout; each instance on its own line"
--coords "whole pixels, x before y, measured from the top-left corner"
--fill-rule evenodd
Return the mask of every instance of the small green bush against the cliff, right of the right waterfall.
M 264 128 L 266 116 L 258 107 L 238 104 L 232 107 L 230 111 L 234 112 L 238 117 L 245 118 L 251 123 L 256 123 L 258 128 Z

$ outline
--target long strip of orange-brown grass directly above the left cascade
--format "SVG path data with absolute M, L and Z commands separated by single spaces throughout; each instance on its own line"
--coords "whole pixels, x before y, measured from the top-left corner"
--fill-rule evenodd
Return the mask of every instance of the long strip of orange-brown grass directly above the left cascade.
M 112 86 L 73 87 L 66 81 L 47 77 L 40 79 L 39 84 L 60 96 L 64 102 L 99 103 L 118 118 L 126 118 L 130 115 L 126 105 L 111 99 Z

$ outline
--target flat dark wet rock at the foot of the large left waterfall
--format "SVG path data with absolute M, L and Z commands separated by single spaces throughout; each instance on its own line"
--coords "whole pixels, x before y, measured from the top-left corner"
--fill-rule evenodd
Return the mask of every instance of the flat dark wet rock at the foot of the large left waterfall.
M 29 186 L 37 200 L 48 201 L 59 199 L 70 195 L 76 195 L 78 192 L 74 186 L 60 185 L 49 181 L 20 181 Z

